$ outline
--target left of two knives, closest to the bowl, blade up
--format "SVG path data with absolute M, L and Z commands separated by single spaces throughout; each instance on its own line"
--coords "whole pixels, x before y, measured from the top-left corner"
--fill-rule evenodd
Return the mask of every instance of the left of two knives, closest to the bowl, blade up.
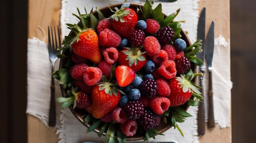
M 199 20 L 198 20 L 198 39 L 202 40 L 202 52 L 197 54 L 197 57 L 202 60 L 204 63 L 204 41 L 205 41 L 205 7 L 202 9 Z M 204 98 L 204 86 L 203 86 L 203 78 L 204 78 L 205 66 L 200 66 L 200 71 L 203 76 L 200 76 L 200 87 L 199 91 L 202 93 L 202 97 Z M 198 72 L 198 73 L 199 73 Z M 204 107 L 204 99 L 198 106 L 198 135 L 202 137 L 205 133 L 205 107 Z

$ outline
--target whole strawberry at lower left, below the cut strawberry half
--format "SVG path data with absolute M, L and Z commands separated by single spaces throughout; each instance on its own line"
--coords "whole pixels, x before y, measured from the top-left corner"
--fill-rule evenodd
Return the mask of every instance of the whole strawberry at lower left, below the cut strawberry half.
M 92 89 L 92 116 L 101 118 L 112 111 L 121 98 L 121 90 L 110 82 L 101 82 Z

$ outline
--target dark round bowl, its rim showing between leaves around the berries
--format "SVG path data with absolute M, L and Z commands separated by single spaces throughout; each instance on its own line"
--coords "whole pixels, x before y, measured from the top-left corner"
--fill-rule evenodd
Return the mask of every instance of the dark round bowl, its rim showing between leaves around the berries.
M 117 3 L 117 4 L 110 4 L 108 5 L 110 8 L 114 8 L 114 7 L 118 7 L 120 8 L 121 5 L 124 4 L 124 3 Z M 110 11 L 110 9 L 108 8 L 108 6 L 104 6 L 104 7 L 101 7 L 99 10 L 101 11 L 101 13 L 103 13 L 103 15 L 105 17 L 110 17 L 110 15 L 113 14 L 113 12 Z M 134 9 L 136 11 L 137 7 L 141 7 L 141 9 L 143 8 L 143 5 L 142 4 L 137 4 L 137 3 L 130 3 L 130 7 L 131 9 Z M 98 15 L 96 14 L 97 12 L 94 11 L 93 14 L 97 17 Z M 138 19 L 141 17 L 141 13 L 137 13 L 138 14 Z M 166 15 L 165 13 L 164 14 L 164 17 L 167 17 L 168 15 Z M 97 17 L 98 18 L 98 17 Z M 182 29 L 181 33 L 182 35 L 182 39 L 184 41 L 186 41 L 186 45 L 187 46 L 190 46 L 191 45 L 191 42 L 189 40 L 189 37 L 186 35 L 186 32 L 184 32 L 184 30 Z M 71 35 L 74 35 L 74 33 L 71 31 L 69 33 L 69 36 Z M 68 55 L 70 53 L 70 50 L 63 50 L 62 52 L 63 54 L 65 55 Z M 67 58 L 61 58 L 61 61 L 60 61 L 60 67 L 59 69 L 62 69 L 64 68 L 64 65 L 67 63 Z M 193 67 L 193 64 L 191 64 L 191 69 L 194 69 Z M 63 85 L 60 85 L 61 87 L 61 93 L 63 95 L 63 97 L 66 97 L 66 90 L 63 88 Z M 189 108 L 189 105 L 187 104 L 184 104 L 181 106 L 182 108 L 184 108 L 185 110 L 187 110 Z M 90 127 L 90 124 L 85 124 L 85 122 L 83 121 L 83 115 L 86 115 L 87 112 L 85 110 L 81 110 L 81 109 L 73 109 L 73 106 L 69 106 L 70 108 L 70 111 L 74 114 L 74 116 L 76 117 L 76 119 L 78 119 L 84 126 L 86 126 L 87 128 Z M 172 123 L 171 123 L 171 119 L 167 119 L 167 123 L 164 123 L 162 120 L 161 120 L 161 123 L 159 126 L 155 127 L 155 129 L 158 131 L 158 132 L 165 132 L 166 130 L 170 129 L 172 127 Z M 94 130 L 94 132 L 98 133 L 100 130 L 100 128 L 97 128 Z M 103 135 L 105 136 L 106 135 L 106 132 L 103 133 Z M 137 140 L 141 140 L 143 139 L 144 137 L 144 134 L 140 134 L 139 132 L 137 132 L 133 137 L 127 137 L 127 141 L 137 141 Z

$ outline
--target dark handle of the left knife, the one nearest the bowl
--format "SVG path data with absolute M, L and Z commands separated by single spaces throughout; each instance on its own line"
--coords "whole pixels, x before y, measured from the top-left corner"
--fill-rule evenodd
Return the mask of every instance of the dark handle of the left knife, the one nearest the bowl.
M 201 72 L 204 74 L 204 70 L 201 70 Z M 199 91 L 202 93 L 202 97 L 204 98 L 204 89 L 203 89 L 203 76 L 200 76 L 200 88 Z M 201 100 L 199 106 L 198 106 L 198 135 L 202 137 L 205 133 L 205 105 L 204 105 L 204 99 Z

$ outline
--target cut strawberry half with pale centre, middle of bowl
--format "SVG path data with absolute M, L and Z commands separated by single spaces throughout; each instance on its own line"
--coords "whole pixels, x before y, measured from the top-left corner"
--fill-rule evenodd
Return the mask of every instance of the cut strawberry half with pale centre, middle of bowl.
M 130 85 L 135 78 L 135 72 L 128 66 L 119 65 L 115 69 L 115 76 L 120 87 Z

